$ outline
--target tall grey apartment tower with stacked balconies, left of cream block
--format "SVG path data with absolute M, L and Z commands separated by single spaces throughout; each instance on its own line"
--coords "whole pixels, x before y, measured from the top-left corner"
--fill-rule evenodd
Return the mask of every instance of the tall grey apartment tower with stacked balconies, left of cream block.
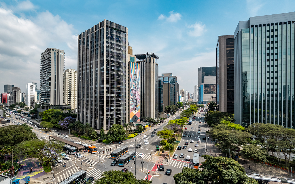
M 40 105 L 63 105 L 64 51 L 57 48 L 47 48 L 41 53 L 40 63 Z

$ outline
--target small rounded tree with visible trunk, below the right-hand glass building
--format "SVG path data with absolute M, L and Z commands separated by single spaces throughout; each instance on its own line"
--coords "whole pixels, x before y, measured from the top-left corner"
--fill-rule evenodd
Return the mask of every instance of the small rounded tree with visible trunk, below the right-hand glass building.
M 254 170 L 256 170 L 256 164 L 261 162 L 267 162 L 266 159 L 266 151 L 260 148 L 260 146 L 256 146 L 254 144 L 246 145 L 242 149 L 242 153 L 244 154 L 245 158 L 252 159 L 251 161 L 254 162 Z

